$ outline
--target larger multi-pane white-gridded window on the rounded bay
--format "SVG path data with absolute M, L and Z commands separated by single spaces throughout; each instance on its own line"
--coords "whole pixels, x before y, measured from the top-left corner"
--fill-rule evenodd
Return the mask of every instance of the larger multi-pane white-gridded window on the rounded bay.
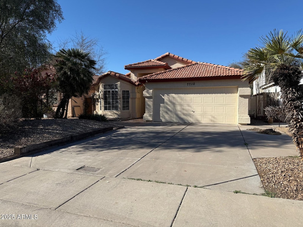
M 104 110 L 118 110 L 118 84 L 104 84 Z

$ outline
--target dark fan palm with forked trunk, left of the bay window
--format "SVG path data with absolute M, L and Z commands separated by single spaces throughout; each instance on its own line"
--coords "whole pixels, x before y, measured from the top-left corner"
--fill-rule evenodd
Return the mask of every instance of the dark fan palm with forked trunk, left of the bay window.
M 88 94 L 96 61 L 91 59 L 90 53 L 76 48 L 62 49 L 54 57 L 58 87 L 63 95 L 55 117 L 63 118 L 65 112 L 67 118 L 69 99 Z

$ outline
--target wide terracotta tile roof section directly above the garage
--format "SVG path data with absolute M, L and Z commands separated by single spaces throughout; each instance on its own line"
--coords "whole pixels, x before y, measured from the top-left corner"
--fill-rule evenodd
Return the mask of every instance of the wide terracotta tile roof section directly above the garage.
M 188 79 L 205 80 L 226 77 L 226 79 L 240 78 L 242 75 L 242 69 L 215 65 L 205 62 L 196 62 L 188 64 L 175 69 L 169 69 L 162 72 L 149 74 L 143 77 L 139 77 L 139 82 L 155 82 L 155 81 L 182 81 Z

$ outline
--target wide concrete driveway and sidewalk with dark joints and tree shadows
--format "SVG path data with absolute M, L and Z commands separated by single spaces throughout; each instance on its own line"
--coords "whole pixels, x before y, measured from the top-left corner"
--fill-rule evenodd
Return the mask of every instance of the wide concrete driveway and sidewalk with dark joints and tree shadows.
M 0 219 L 0 226 L 301 225 L 301 201 L 250 195 L 264 192 L 251 156 L 266 156 L 268 139 L 246 126 L 122 124 L 1 163 L 1 213 L 32 219 Z M 292 155 L 289 141 L 274 146 Z

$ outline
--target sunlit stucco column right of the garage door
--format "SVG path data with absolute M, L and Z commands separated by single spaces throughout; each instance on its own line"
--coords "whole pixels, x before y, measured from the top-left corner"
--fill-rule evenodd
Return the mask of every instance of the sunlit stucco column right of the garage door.
M 249 87 L 239 88 L 238 90 L 238 124 L 247 125 L 250 123 L 248 115 L 248 104 L 251 96 Z

